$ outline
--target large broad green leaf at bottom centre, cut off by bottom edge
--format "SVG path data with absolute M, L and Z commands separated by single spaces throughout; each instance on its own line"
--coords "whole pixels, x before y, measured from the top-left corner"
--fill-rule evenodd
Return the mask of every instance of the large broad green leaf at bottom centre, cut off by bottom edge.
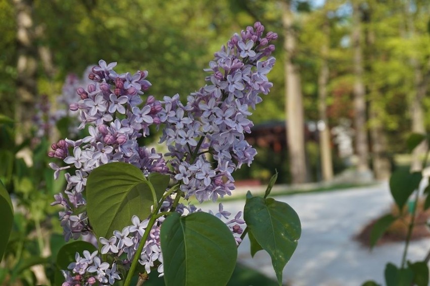
M 227 227 L 216 216 L 196 212 L 169 215 L 160 240 L 166 285 L 225 285 L 236 265 L 237 247 Z

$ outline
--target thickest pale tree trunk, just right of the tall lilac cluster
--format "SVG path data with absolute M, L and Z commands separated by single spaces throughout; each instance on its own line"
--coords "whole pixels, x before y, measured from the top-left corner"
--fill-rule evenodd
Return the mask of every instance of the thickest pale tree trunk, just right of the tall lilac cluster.
M 307 181 L 305 142 L 304 142 L 304 115 L 301 92 L 300 74 L 294 65 L 293 58 L 296 48 L 296 39 L 293 28 L 293 14 L 291 3 L 284 0 L 282 23 L 284 28 L 285 50 L 285 98 L 287 113 L 287 142 L 290 155 L 290 173 L 293 184 Z

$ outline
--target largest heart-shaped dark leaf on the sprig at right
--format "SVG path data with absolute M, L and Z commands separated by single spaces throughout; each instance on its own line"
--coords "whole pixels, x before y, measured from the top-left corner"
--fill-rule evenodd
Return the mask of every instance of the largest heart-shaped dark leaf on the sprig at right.
M 391 195 L 400 211 L 402 211 L 409 196 L 418 188 L 421 179 L 422 174 L 420 172 L 409 173 L 408 170 L 403 169 L 397 170 L 391 175 Z

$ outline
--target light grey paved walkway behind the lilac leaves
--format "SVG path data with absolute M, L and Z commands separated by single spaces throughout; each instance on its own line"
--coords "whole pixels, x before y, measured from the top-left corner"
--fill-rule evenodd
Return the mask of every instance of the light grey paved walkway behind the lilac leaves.
M 378 246 L 370 252 L 352 239 L 369 220 L 390 208 L 392 198 L 387 183 L 276 199 L 290 204 L 302 223 L 298 247 L 284 269 L 286 284 L 359 286 L 368 279 L 385 284 L 385 264 L 400 264 L 404 244 Z M 224 209 L 232 213 L 243 210 L 243 204 L 242 201 L 223 203 Z M 408 259 L 422 260 L 429 248 L 430 239 L 411 243 Z M 239 261 L 276 279 L 270 256 L 260 251 L 251 258 L 247 239 L 239 247 Z

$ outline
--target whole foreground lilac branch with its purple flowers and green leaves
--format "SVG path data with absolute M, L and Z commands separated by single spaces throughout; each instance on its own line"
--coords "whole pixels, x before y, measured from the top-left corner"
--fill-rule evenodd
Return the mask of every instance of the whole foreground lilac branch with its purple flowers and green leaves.
M 277 175 L 264 197 L 248 192 L 243 219 L 222 204 L 213 214 L 189 202 L 231 195 L 233 171 L 256 154 L 244 133 L 253 126 L 250 107 L 272 87 L 266 75 L 277 38 L 263 32 L 257 22 L 233 35 L 186 104 L 179 95 L 144 97 L 146 71 L 117 74 L 116 63 L 102 60 L 92 68 L 92 83 L 77 88 L 80 100 L 70 104 L 88 136 L 60 140 L 48 153 L 66 163 L 49 164 L 55 178 L 66 170 L 66 190 L 52 203 L 63 207 L 65 239 L 84 239 L 60 249 L 57 285 L 141 285 L 153 270 L 167 285 L 223 285 L 246 234 L 251 254 L 265 250 L 282 283 L 301 226 L 287 203 L 268 197 Z M 140 145 L 150 126 L 162 131 L 167 153 Z

